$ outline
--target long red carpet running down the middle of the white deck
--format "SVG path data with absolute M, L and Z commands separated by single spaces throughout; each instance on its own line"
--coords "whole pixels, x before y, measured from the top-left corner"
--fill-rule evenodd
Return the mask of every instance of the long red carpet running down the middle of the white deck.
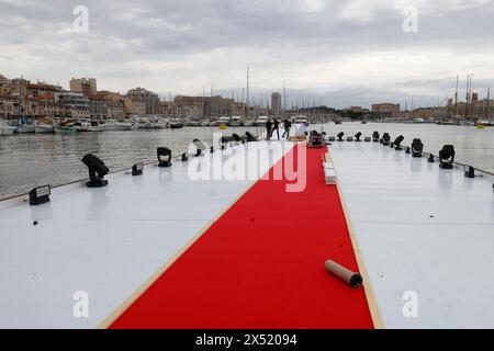
M 307 150 L 304 192 L 257 182 L 111 328 L 373 328 L 363 288 L 324 268 L 358 270 L 322 152 Z

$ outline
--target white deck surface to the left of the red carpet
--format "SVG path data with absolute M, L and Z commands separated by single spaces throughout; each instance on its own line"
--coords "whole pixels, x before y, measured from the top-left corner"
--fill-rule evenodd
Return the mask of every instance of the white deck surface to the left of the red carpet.
M 0 327 L 94 328 L 108 321 L 293 147 L 272 145 L 272 160 L 260 160 L 255 180 L 193 181 L 189 163 L 178 161 L 168 169 L 146 167 L 143 177 L 111 174 L 103 189 L 83 182 L 57 188 L 40 206 L 23 197 L 0 203 Z M 231 157 L 216 151 L 201 162 Z M 89 318 L 72 314 L 78 291 L 89 294 Z

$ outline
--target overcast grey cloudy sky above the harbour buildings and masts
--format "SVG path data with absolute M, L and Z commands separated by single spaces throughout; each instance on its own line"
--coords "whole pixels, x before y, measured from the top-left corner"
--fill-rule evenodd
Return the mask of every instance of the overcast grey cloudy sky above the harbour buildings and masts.
M 74 31 L 77 5 L 88 33 Z M 406 5 L 417 33 L 403 30 Z M 337 107 L 428 105 L 454 93 L 458 73 L 462 90 L 469 72 L 481 95 L 494 88 L 493 19 L 494 0 L 0 0 L 0 73 L 242 95 L 250 66 L 258 93 L 285 80 L 292 99 Z

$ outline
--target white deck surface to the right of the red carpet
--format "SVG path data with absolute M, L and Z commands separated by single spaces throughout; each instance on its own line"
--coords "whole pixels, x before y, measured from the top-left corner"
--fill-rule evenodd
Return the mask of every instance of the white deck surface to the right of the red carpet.
M 492 178 L 374 143 L 329 152 L 384 326 L 494 327 Z

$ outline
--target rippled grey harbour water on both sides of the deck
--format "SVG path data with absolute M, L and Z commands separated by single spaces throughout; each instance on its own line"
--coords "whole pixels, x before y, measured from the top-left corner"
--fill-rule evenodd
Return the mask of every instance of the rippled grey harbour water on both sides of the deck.
M 392 139 L 403 135 L 403 145 L 414 138 L 422 138 L 424 150 L 438 154 L 445 144 L 452 144 L 457 150 L 457 161 L 494 171 L 494 128 L 483 131 L 474 127 L 439 126 L 429 124 L 367 124 L 344 123 L 311 126 L 329 135 L 345 132 L 364 136 L 379 131 L 390 133 Z M 257 128 L 231 128 L 225 134 L 243 134 Z M 180 155 L 194 139 L 209 144 L 217 128 L 198 127 L 178 131 L 149 132 L 105 132 L 80 133 L 77 135 L 14 135 L 0 137 L 0 197 L 27 192 L 36 185 L 57 185 L 87 178 L 87 169 L 81 158 L 93 152 L 102 158 L 110 169 L 131 167 L 137 161 L 156 160 L 156 148 L 169 147 Z

